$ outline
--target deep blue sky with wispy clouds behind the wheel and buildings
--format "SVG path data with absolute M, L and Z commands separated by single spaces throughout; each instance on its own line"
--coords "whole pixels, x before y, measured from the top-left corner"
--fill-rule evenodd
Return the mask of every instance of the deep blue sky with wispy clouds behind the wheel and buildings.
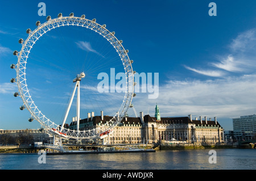
M 52 18 L 74 12 L 107 24 L 129 49 L 135 71 L 159 73 L 158 98 L 148 99 L 138 92 L 133 99 L 137 112 L 153 116 L 158 103 L 164 117 L 216 116 L 226 130 L 233 129 L 233 117 L 255 113 L 255 1 L 12 1 L 0 2 L 4 15 L 0 18 L 0 129 L 40 127 L 36 121 L 28 123 L 28 111 L 19 110 L 22 100 L 14 98 L 18 88 L 10 83 L 15 77 L 10 65 L 17 61 L 13 50 L 21 48 L 18 40 L 27 38 L 27 28 L 34 30 L 37 20 L 46 21 L 46 16 L 38 15 L 39 2 L 46 3 L 46 15 Z M 217 16 L 209 16 L 210 2 L 216 3 Z M 81 57 L 86 57 L 85 64 Z M 101 57 L 113 60 L 113 65 L 97 62 L 104 60 Z M 27 83 L 33 100 L 57 123 L 73 89 L 72 82 L 67 86 L 68 78 L 83 69 L 95 77 L 101 71 L 109 73 L 113 66 L 117 71 L 122 68 L 101 37 L 72 27 L 47 33 L 34 45 L 28 60 Z M 94 85 L 97 81 L 88 82 L 84 90 Z M 119 105 L 120 99 L 111 102 Z M 93 108 L 99 115 L 108 103 L 97 102 L 93 107 L 86 103 L 82 116 Z M 133 116 L 133 110 L 129 115 Z

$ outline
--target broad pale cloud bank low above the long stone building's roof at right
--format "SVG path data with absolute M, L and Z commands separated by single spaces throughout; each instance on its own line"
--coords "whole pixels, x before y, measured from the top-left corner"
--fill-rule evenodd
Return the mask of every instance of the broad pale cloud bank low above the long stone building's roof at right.
M 147 94 L 137 94 L 133 99 L 139 111 L 154 115 L 158 103 L 164 116 L 239 117 L 255 113 L 256 75 L 228 77 L 214 81 L 168 81 L 159 87 L 158 99 L 147 99 Z

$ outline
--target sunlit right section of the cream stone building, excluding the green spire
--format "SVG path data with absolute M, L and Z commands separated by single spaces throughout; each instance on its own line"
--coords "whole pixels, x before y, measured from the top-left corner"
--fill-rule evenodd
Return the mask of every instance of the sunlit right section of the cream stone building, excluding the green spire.
M 224 129 L 217 120 L 192 120 L 189 115 L 189 117 L 161 117 L 161 120 L 157 121 L 155 117 L 146 115 L 144 122 L 144 132 L 149 141 L 200 142 L 202 144 L 224 142 Z

